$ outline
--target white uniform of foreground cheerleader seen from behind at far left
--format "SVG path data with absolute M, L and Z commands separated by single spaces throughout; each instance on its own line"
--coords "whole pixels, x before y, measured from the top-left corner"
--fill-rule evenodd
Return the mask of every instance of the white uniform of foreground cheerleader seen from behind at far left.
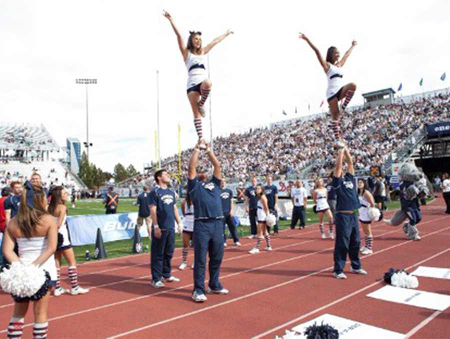
M 35 236 L 32 238 L 16 238 L 18 246 L 18 256 L 24 264 L 29 264 L 37 259 L 42 251 L 47 247 L 47 238 L 45 236 Z M 50 274 L 50 280 L 56 281 L 56 264 L 54 255 L 51 254 L 39 268 L 45 269 Z

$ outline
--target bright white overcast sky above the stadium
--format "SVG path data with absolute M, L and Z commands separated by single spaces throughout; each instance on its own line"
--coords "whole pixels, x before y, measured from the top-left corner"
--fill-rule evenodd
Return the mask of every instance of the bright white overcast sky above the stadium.
M 446 0 L 0 0 L 0 121 L 43 123 L 61 146 L 66 137 L 83 142 L 85 88 L 75 78 L 97 78 L 89 86 L 90 160 L 141 171 L 155 158 L 159 70 L 162 156 L 177 151 L 178 122 L 182 148 L 192 146 L 186 68 L 162 9 L 184 40 L 192 29 L 203 45 L 234 30 L 209 53 L 214 135 L 319 111 L 326 77 L 299 31 L 323 54 L 335 45 L 342 55 L 357 40 L 343 68 L 358 86 L 353 104 L 400 82 L 403 95 L 421 92 L 421 77 L 425 90 L 446 85 Z M 206 137 L 208 126 L 203 119 Z

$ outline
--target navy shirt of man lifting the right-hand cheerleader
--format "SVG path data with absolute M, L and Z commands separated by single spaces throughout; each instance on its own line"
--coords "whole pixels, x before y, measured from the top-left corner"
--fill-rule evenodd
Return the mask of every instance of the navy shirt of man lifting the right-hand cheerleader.
M 336 192 L 336 212 L 352 211 L 359 208 L 356 182 L 353 174 L 345 173 L 343 177 L 333 176 L 333 188 Z

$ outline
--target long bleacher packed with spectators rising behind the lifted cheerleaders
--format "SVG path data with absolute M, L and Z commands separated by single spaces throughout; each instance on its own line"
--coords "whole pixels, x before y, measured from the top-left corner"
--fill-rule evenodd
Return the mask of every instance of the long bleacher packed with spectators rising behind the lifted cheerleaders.
M 384 159 L 423 123 L 450 119 L 448 94 L 436 94 L 409 103 L 398 100 L 389 106 L 359 108 L 345 112 L 341 118 L 341 135 L 352 149 L 356 169 L 380 165 Z M 332 168 L 332 138 L 329 118 L 315 118 L 271 128 L 251 129 L 242 134 L 230 134 L 214 139 L 214 152 L 227 178 L 243 179 L 252 175 L 295 174 L 316 160 L 314 172 L 323 175 Z M 181 153 L 181 170 L 187 172 L 192 148 Z M 176 173 L 178 155 L 161 161 L 169 172 Z M 206 166 L 204 154 L 199 164 Z

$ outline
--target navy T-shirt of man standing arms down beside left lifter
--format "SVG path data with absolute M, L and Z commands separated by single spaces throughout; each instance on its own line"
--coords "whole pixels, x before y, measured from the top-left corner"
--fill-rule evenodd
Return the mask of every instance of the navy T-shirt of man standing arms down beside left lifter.
M 156 206 L 156 220 L 161 230 L 175 229 L 175 212 L 173 206 L 176 203 L 175 192 L 170 188 L 156 186 L 149 194 L 150 205 Z

